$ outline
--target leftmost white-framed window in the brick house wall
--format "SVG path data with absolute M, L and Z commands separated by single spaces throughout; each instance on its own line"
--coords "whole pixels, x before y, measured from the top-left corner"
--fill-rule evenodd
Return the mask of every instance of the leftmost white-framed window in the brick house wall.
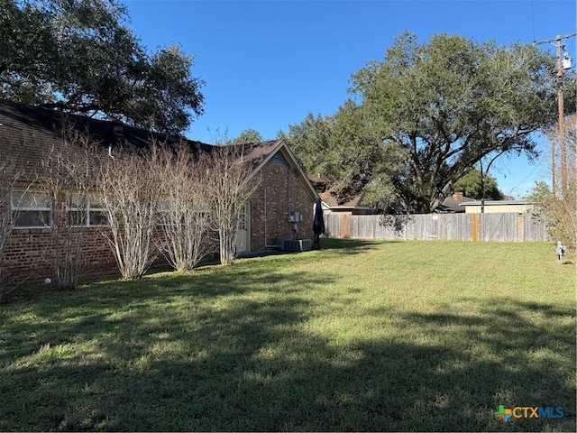
M 12 192 L 12 221 L 14 228 L 45 228 L 52 226 L 50 196 L 31 189 Z

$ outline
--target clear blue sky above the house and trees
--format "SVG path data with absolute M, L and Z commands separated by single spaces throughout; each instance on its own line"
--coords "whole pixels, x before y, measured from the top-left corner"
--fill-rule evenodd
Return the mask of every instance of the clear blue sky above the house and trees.
M 197 1 L 124 0 L 133 29 L 151 50 L 179 43 L 195 55 L 206 85 L 205 114 L 187 132 L 213 143 L 252 128 L 264 139 L 307 113 L 331 115 L 351 75 L 382 60 L 401 32 L 426 42 L 436 33 L 499 45 L 545 41 L 576 32 L 575 0 Z M 575 38 L 564 42 L 577 61 Z M 554 44 L 539 46 L 554 53 Z M 574 61 L 573 63 L 575 63 Z M 490 174 L 516 198 L 549 180 L 548 144 L 536 163 L 504 158 Z

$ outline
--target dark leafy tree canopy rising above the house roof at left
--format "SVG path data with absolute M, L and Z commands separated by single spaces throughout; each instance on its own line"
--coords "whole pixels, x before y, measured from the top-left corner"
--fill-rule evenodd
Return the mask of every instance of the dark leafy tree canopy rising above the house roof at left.
M 179 46 L 148 52 L 115 0 L 0 0 L 0 97 L 179 133 L 203 112 Z

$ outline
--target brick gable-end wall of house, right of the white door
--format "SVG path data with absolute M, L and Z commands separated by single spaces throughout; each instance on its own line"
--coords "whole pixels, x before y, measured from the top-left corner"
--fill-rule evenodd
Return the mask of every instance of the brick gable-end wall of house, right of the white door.
M 314 198 L 295 170 L 267 163 L 262 167 L 261 186 L 251 199 L 251 249 L 278 246 L 280 239 L 312 239 Z M 266 198 L 266 201 L 265 201 Z M 299 212 L 303 221 L 293 232 L 289 212 Z

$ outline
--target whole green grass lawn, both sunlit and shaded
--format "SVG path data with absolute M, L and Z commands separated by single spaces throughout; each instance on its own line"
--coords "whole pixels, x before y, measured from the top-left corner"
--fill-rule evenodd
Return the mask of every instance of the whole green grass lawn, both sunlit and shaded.
M 322 242 L 0 305 L 0 430 L 574 431 L 574 260 Z

